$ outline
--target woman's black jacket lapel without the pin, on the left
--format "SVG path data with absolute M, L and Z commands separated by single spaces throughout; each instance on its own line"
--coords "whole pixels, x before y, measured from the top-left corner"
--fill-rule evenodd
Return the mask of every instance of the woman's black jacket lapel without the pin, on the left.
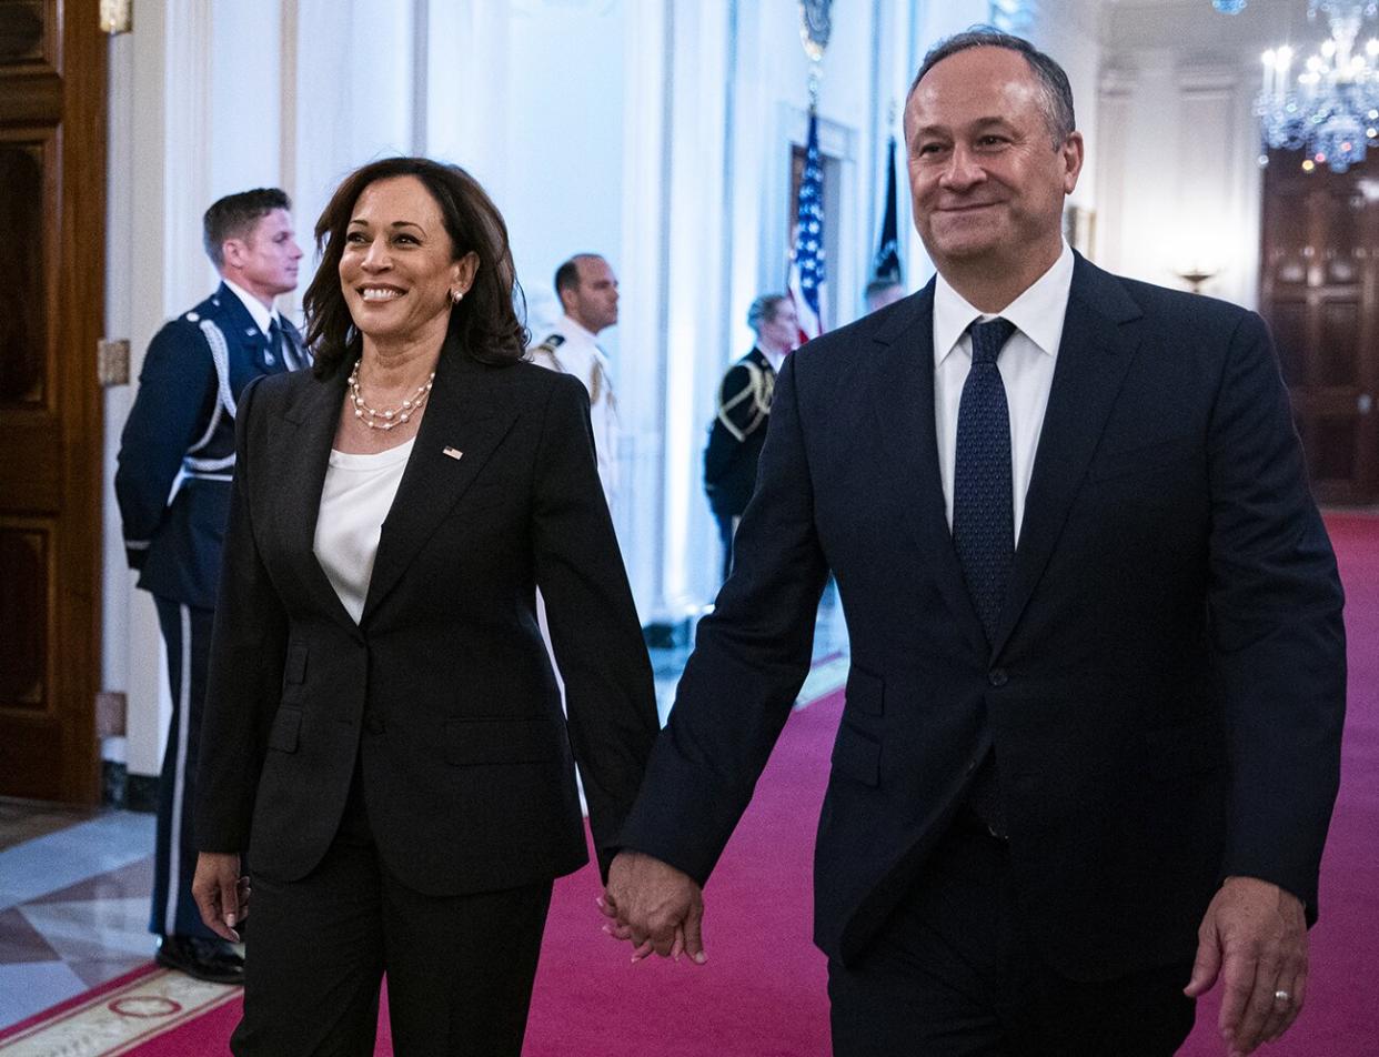
M 283 518 L 283 531 L 292 539 L 290 553 L 305 555 L 298 572 L 306 593 L 316 599 L 323 612 L 328 612 L 346 627 L 354 627 L 353 617 L 341 604 L 314 550 L 321 489 L 325 486 L 331 444 L 345 402 L 348 375 L 349 371 L 342 367 L 325 382 L 312 380 L 302 387 L 299 398 L 284 413 L 284 418 L 296 426 L 296 442 L 283 445 L 273 458 L 283 467 L 281 495 L 274 496 L 274 503 Z

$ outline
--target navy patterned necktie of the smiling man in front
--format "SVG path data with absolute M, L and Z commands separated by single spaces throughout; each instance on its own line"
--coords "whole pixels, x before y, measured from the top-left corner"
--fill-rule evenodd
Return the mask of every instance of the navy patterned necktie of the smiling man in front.
M 953 470 L 953 544 L 967 590 L 989 644 L 1005 601 L 1015 560 L 1015 509 L 1011 496 L 1011 412 L 996 360 L 1015 333 L 1000 317 L 974 322 L 972 369 L 957 411 Z

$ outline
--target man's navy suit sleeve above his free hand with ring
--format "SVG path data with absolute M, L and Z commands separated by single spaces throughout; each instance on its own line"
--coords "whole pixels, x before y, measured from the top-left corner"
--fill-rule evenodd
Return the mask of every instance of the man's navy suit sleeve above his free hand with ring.
M 1345 721 L 1342 590 L 1254 313 L 1231 339 L 1208 458 L 1208 605 L 1231 768 L 1222 872 L 1271 881 L 1314 918 Z

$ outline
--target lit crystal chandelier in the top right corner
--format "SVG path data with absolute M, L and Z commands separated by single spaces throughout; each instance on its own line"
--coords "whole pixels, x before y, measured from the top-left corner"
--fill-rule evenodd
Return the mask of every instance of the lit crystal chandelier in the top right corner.
M 1321 52 L 1291 80 L 1292 48 L 1263 54 L 1263 87 L 1255 105 L 1266 147 L 1303 150 L 1303 170 L 1345 172 L 1379 149 L 1379 40 L 1356 47 L 1361 23 L 1379 0 L 1307 0 L 1307 18 L 1321 11 L 1331 26 Z M 1259 164 L 1269 163 L 1260 154 Z

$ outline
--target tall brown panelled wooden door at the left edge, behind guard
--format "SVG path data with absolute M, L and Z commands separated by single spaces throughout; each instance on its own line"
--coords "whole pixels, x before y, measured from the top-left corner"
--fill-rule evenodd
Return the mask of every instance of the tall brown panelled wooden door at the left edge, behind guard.
M 99 797 L 106 40 L 0 0 L 0 794 Z

